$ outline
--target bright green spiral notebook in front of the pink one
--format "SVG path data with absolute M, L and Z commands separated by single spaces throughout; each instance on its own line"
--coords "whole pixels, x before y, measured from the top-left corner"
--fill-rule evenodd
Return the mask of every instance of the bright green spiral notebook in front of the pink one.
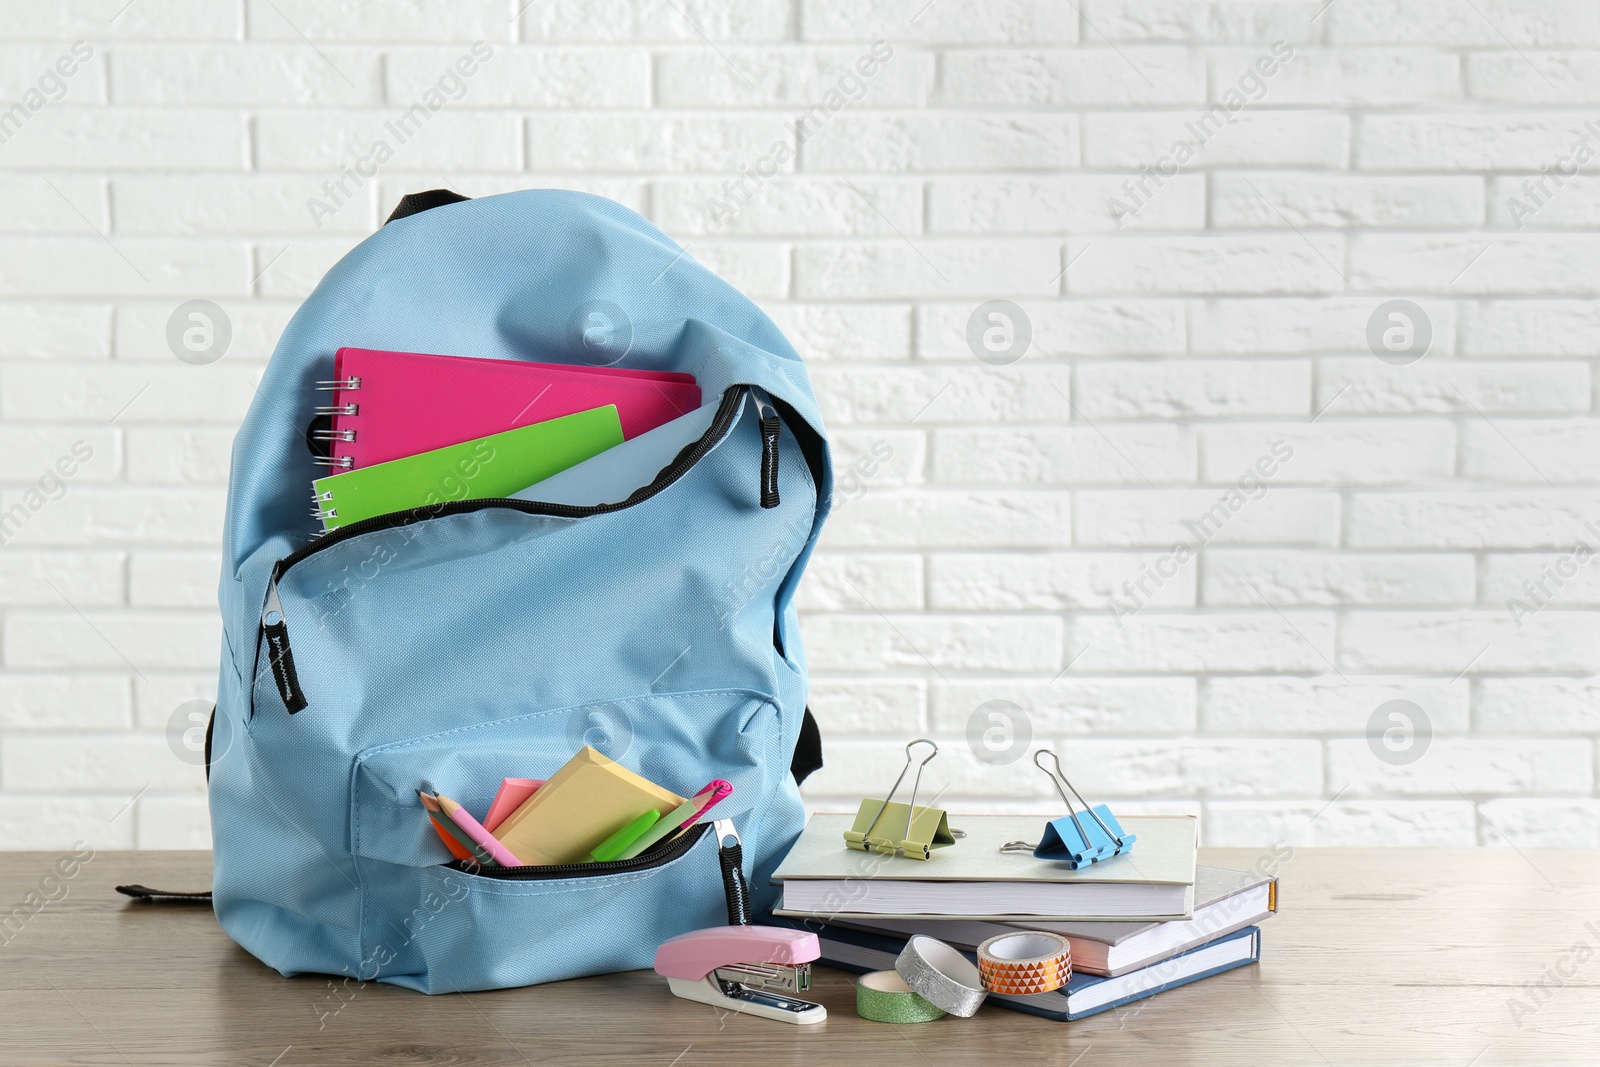
M 622 443 L 616 405 L 312 482 L 323 530 L 443 501 L 510 496 Z

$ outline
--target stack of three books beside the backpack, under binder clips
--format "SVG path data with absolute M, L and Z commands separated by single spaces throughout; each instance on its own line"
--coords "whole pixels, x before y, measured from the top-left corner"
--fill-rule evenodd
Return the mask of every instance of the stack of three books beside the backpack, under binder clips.
M 922 862 L 845 848 L 851 822 L 811 816 L 773 875 L 782 886 L 773 921 L 816 933 L 822 961 L 851 971 L 893 969 L 912 934 L 968 957 L 1014 929 L 1061 934 L 1072 945 L 1066 987 L 989 995 L 1051 1019 L 1082 1019 L 1256 963 L 1258 923 L 1278 905 L 1269 873 L 1197 865 L 1197 821 L 1187 816 L 1123 819 L 1138 837 L 1131 851 L 1082 870 L 1016 848 L 1038 840 L 1038 816 L 950 816 L 965 837 Z

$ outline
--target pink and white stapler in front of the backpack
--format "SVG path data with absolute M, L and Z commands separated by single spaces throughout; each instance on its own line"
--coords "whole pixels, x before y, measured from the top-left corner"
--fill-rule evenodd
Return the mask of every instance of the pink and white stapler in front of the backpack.
M 816 934 L 782 926 L 710 926 L 678 934 L 656 950 L 656 974 L 674 995 L 784 1022 L 821 1022 L 827 1008 L 779 992 L 811 987 Z

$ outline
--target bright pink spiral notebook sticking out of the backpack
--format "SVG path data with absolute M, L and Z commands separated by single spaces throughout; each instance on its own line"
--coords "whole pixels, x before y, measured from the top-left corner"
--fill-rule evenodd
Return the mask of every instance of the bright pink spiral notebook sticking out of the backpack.
M 331 454 L 347 470 L 613 403 L 627 440 L 701 405 L 693 374 L 616 366 L 339 349 L 333 376 Z

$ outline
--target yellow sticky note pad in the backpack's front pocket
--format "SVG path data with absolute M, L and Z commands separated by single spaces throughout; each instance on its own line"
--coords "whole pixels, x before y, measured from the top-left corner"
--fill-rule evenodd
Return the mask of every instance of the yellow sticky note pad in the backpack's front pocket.
M 645 809 L 669 814 L 683 797 L 584 745 L 494 830 L 525 864 L 576 864 Z

